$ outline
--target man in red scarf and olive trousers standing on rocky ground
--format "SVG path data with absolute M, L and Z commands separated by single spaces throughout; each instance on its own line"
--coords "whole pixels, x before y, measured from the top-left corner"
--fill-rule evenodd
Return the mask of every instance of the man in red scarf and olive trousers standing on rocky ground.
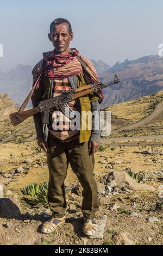
M 42 78 L 37 83 L 32 96 L 33 106 L 37 106 L 43 99 L 55 97 L 67 90 L 84 86 L 98 81 L 95 67 L 85 57 L 80 57 L 89 66 L 88 74 L 81 65 L 75 48 L 70 48 L 73 32 L 66 19 L 55 19 L 50 26 L 49 40 L 54 50 L 43 53 L 43 59 L 33 69 L 33 84 L 42 72 Z M 99 96 L 80 97 L 79 100 L 68 103 L 72 111 L 98 111 Z M 53 111 L 59 109 L 53 109 Z M 71 119 L 64 115 L 64 122 L 60 130 L 56 130 L 56 116 L 44 112 L 34 115 L 38 145 L 47 153 L 49 168 L 48 203 L 53 212 L 49 221 L 42 225 L 43 233 L 50 233 L 58 225 L 65 222 L 66 200 L 64 180 L 67 174 L 68 162 L 76 173 L 83 187 L 82 212 L 84 215 L 83 231 L 86 235 L 96 232 L 97 224 L 94 220 L 98 210 L 97 185 L 93 177 L 95 164 L 94 153 L 98 150 L 100 130 L 95 129 L 95 118 L 92 130 L 71 130 Z

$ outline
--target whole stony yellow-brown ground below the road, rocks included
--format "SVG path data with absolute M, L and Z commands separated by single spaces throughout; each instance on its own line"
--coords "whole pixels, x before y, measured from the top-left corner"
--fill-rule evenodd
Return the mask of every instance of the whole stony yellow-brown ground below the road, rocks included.
M 82 232 L 82 188 L 68 168 L 66 223 L 51 234 L 41 224 L 51 212 L 43 206 L 29 208 L 20 188 L 48 180 L 46 156 L 36 142 L 0 144 L 0 244 L 1 245 L 162 245 L 162 147 L 108 147 L 95 155 L 101 227 L 95 237 Z M 137 183 L 127 172 L 142 177 Z M 68 189 L 67 189 L 68 188 Z

